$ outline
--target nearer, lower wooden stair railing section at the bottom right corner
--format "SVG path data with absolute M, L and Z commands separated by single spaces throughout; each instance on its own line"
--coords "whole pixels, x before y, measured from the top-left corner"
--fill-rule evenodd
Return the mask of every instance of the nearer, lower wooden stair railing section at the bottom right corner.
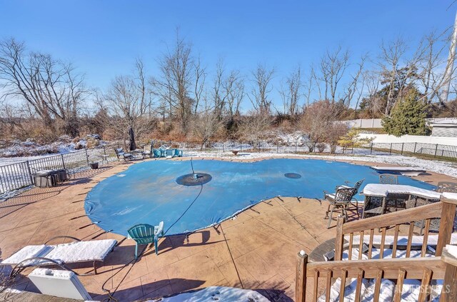
M 440 301 L 456 301 L 457 259 L 448 261 L 442 257 L 421 258 L 390 258 L 353 261 L 319 261 L 309 262 L 306 253 L 298 253 L 296 271 L 296 302 L 317 301 L 321 294 L 326 301 L 331 298 L 331 285 L 335 278 L 341 278 L 339 293 L 344 293 L 344 288 L 351 278 L 356 279 L 356 292 L 354 301 L 363 298 L 363 279 L 374 279 L 375 287 L 373 301 L 379 301 L 381 280 L 391 279 L 396 281 L 393 301 L 401 301 L 403 283 L 407 279 L 421 281 L 421 291 L 418 301 L 426 301 L 431 292 L 432 280 L 443 280 L 443 291 Z M 322 280 L 323 279 L 323 280 Z M 320 286 L 323 283 L 324 287 Z M 321 293 L 323 288 L 323 292 Z M 321 289 L 321 291 L 319 291 Z M 332 297 L 335 298 L 335 297 Z M 344 300 L 344 294 L 339 295 L 339 301 Z

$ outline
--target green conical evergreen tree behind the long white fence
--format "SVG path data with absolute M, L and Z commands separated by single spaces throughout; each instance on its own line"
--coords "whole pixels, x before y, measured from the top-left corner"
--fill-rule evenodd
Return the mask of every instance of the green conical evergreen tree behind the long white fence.
M 383 129 L 394 136 L 427 135 L 430 131 L 426 124 L 426 101 L 420 100 L 417 89 L 409 89 L 408 93 L 397 101 L 390 116 L 382 119 Z

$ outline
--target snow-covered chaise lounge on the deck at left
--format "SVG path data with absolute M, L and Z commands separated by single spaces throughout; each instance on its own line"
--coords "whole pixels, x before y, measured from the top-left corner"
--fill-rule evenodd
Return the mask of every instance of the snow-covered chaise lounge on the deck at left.
M 49 241 L 56 238 L 70 238 L 73 242 L 48 245 Z M 56 265 L 65 268 L 67 271 L 72 271 L 70 268 L 66 268 L 65 264 L 80 262 L 93 262 L 94 273 L 97 273 L 96 262 L 103 262 L 117 244 L 114 239 L 81 241 L 70 236 L 57 236 L 49 239 L 49 241 L 39 246 L 24 246 L 9 258 L 1 261 L 0 265 L 14 266 L 11 277 L 31 266 Z M 78 274 L 76 273 L 76 275 Z

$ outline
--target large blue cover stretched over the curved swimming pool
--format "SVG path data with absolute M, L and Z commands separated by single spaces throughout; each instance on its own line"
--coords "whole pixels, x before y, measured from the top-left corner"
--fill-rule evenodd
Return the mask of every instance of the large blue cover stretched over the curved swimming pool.
M 87 195 L 84 208 L 105 231 L 126 236 L 136 223 L 164 221 L 166 235 L 195 231 L 274 196 L 322 198 L 344 181 L 379 174 L 367 166 L 313 159 L 268 159 L 255 163 L 194 161 L 196 173 L 208 173 L 202 186 L 182 186 L 176 178 L 191 173 L 191 161 L 147 161 L 106 178 Z M 434 186 L 398 176 L 398 182 L 426 189 Z M 362 191 L 362 188 L 360 191 Z M 363 196 L 356 196 L 363 200 Z

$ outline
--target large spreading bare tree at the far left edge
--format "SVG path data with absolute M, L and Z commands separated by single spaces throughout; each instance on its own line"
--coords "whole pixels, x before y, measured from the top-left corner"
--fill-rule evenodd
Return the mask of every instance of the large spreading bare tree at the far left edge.
M 54 121 L 74 118 L 89 89 L 71 64 L 28 52 L 14 39 L 0 42 L 1 99 L 20 99 L 54 130 Z

